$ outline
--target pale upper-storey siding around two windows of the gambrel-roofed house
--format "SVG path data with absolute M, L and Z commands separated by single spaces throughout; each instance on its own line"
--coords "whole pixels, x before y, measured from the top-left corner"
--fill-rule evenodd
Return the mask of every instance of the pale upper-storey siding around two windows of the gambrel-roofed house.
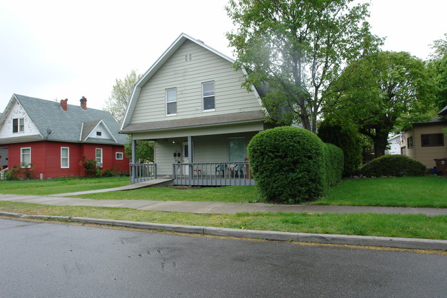
M 185 55 L 191 60 L 185 61 Z M 215 111 L 202 111 L 201 83 L 215 81 Z M 259 111 L 259 100 L 241 88 L 243 73 L 226 59 L 186 41 L 141 89 L 131 124 L 241 111 Z M 165 89 L 177 88 L 177 116 L 166 117 Z

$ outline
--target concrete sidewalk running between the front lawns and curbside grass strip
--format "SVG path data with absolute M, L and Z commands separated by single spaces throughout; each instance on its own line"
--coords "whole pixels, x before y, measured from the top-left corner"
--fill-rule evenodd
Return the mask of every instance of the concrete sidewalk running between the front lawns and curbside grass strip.
M 98 192 L 98 191 L 96 191 Z M 80 194 L 80 193 L 76 193 Z M 425 214 L 447 215 L 447 209 L 375 207 L 375 206 L 327 206 L 327 205 L 281 205 L 264 203 L 223 203 L 151 200 L 91 200 L 65 198 L 61 195 L 0 195 L 0 201 L 46 204 L 54 206 L 95 206 L 110 208 L 130 208 L 148 211 L 188 212 L 188 213 L 382 213 L 382 214 Z

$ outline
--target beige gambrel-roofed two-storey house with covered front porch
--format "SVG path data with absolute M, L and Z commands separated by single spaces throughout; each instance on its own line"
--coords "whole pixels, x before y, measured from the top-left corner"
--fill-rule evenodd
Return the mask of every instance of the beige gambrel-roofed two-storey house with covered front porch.
M 134 164 L 134 182 L 156 173 L 174 184 L 253 183 L 246 148 L 268 127 L 259 90 L 241 87 L 245 72 L 233 63 L 181 34 L 144 73 L 120 133 L 130 134 L 133 150 L 135 140 L 153 140 L 155 164 Z

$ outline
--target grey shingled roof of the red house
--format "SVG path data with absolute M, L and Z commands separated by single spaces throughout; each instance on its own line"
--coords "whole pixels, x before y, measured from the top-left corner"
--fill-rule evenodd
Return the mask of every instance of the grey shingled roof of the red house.
M 113 140 L 91 140 L 91 138 L 89 138 L 87 142 L 122 145 L 127 138 L 127 136 L 118 134 L 120 127 L 108 111 L 91 108 L 85 110 L 79 105 L 67 105 L 67 111 L 63 111 L 61 104 L 56 101 L 33 98 L 19 94 L 14 94 L 12 96 L 5 112 L 0 117 L 0 125 L 2 125 L 6 119 L 8 109 L 12 107 L 14 100 L 17 100 L 19 105 L 21 105 L 28 114 L 32 123 L 41 134 L 41 139 L 84 142 L 89 134 L 83 139 L 83 132 L 88 130 L 91 132 L 100 123 L 104 123 Z M 83 129 L 84 126 L 85 129 Z M 8 138 L 8 140 L 9 139 L 15 138 Z M 25 141 L 24 138 L 22 139 L 22 141 Z M 1 142 L 4 142 L 4 140 L 1 140 Z

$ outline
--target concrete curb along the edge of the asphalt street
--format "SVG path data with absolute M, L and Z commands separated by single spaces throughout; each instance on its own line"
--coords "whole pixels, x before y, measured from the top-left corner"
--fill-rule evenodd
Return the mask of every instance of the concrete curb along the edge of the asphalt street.
M 274 241 L 313 242 L 322 244 L 345 244 L 359 246 L 384 246 L 395 248 L 433 249 L 438 251 L 447 251 L 447 240 L 257 231 L 237 228 L 216 228 L 212 226 L 185 226 L 181 224 L 156 224 L 151 222 L 131 222 L 127 220 L 104 220 L 89 217 L 26 215 L 21 213 L 3 211 L 0 211 L 0 215 L 12 217 L 31 217 L 36 219 L 71 220 L 73 222 L 85 222 L 89 224 L 124 226 L 128 228 L 143 228 L 149 230 L 172 231 L 178 233 L 196 233 L 223 237 L 242 237 Z

